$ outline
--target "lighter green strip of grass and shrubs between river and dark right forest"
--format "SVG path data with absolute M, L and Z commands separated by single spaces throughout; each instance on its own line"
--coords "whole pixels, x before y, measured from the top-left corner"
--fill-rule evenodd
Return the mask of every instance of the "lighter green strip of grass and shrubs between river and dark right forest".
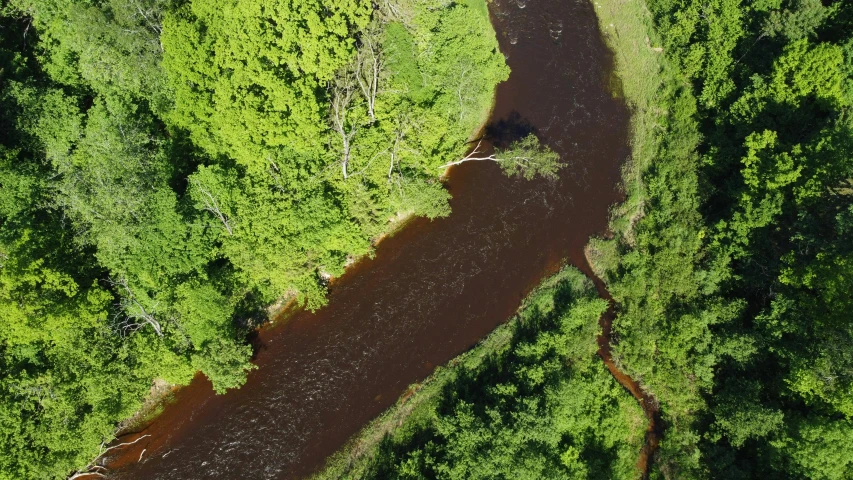
M 697 295 L 684 279 L 693 278 L 695 239 L 703 233 L 695 204 L 701 137 L 692 87 L 668 62 L 646 3 L 592 2 L 614 54 L 618 94 L 631 110 L 632 154 L 623 169 L 626 200 L 611 211 L 613 237 L 592 239 L 587 258 L 619 305 L 617 364 L 661 404 L 667 432 L 656 476 L 673 456 L 695 453 L 691 425 L 703 405 L 699 386 L 681 375 L 684 359 L 671 345 L 677 335 L 667 333 L 686 328 L 669 324 L 673 301 Z

